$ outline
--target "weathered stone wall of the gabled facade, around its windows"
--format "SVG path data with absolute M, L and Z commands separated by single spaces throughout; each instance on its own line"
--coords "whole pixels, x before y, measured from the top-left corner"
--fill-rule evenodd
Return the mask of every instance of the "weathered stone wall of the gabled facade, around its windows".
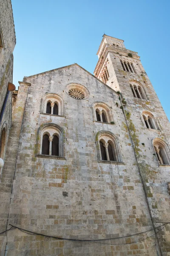
M 85 86 L 88 98 L 71 98 L 66 92 L 71 83 Z M 57 93 L 62 97 L 63 116 L 40 113 L 42 96 L 46 93 Z M 134 99 L 129 97 L 130 100 Z M 114 124 L 94 120 L 92 107 L 95 102 L 104 102 L 111 108 Z M 6 177 L 14 175 L 14 183 L 12 194 L 11 185 L 3 186 L 4 193 L 0 198 L 1 203 L 3 202 L 0 215 L 2 227 L 5 227 L 8 219 L 8 228 L 12 224 L 48 236 L 82 240 L 113 239 L 153 229 L 127 121 L 140 124 L 142 131 L 144 128 L 140 116 L 133 116 L 133 106 L 128 118 L 120 106 L 118 93 L 77 64 L 25 77 L 20 82 L 6 152 L 11 160 L 3 168 L 3 175 Z M 36 156 L 38 129 L 48 123 L 55 123 L 64 130 L 65 159 Z M 99 131 L 110 131 L 116 135 L 123 163 L 99 161 L 96 143 Z M 144 135 L 139 138 L 139 145 L 136 147 L 140 155 L 148 153 L 148 141 Z M 141 144 L 143 142 L 145 146 Z M 151 156 L 152 151 L 150 145 Z M 156 166 L 156 159 L 152 158 L 152 166 Z M 145 159 L 146 165 L 149 165 L 147 155 Z M 164 168 L 161 170 L 163 172 Z M 154 175 L 155 172 L 154 170 Z M 157 183 L 160 185 L 161 180 Z M 166 193 L 164 183 L 161 187 Z M 153 231 L 149 233 L 152 234 Z M 31 236 L 16 229 L 8 231 L 6 255 L 157 256 L 154 236 L 131 244 L 146 238 L 146 234 L 143 236 L 144 234 L 100 241 L 107 244 L 95 244 Z M 6 236 L 2 238 L 3 255 Z

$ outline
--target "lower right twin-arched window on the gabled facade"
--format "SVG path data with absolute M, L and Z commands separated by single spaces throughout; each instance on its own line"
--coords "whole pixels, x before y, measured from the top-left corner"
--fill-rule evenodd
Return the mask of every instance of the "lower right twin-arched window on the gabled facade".
M 99 160 L 122 163 L 122 156 L 117 137 L 110 131 L 100 131 L 96 134 L 96 145 Z

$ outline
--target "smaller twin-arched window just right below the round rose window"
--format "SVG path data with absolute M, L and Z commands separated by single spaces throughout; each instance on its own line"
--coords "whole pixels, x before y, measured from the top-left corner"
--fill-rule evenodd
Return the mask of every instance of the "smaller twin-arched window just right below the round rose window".
M 113 115 L 111 108 L 103 102 L 95 102 L 92 105 L 94 121 L 113 122 Z

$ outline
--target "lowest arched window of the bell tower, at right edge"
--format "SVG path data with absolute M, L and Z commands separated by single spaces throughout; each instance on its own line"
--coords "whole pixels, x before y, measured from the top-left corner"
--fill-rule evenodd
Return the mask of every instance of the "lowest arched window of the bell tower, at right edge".
M 170 153 L 167 143 L 164 140 L 156 138 L 153 140 L 153 147 L 156 152 L 159 164 L 170 165 Z

